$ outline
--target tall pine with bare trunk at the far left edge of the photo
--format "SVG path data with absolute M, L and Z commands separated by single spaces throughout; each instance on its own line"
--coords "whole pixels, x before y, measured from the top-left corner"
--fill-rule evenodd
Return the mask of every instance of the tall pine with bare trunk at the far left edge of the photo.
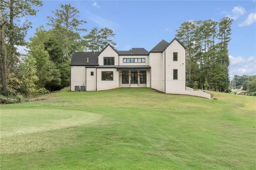
M 7 95 L 8 71 L 10 71 L 10 75 L 17 75 L 18 73 L 16 70 L 19 58 L 15 45 L 25 45 L 25 35 L 31 25 L 27 20 L 23 22 L 23 25 L 17 25 L 14 21 L 26 15 L 35 15 L 37 12 L 33 9 L 35 6 L 42 6 L 42 1 L 5 0 L 0 2 L 1 77 L 4 95 Z

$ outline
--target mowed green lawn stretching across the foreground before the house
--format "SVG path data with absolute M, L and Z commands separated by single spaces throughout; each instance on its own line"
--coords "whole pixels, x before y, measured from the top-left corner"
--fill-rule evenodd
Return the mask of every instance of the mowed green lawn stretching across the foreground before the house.
M 1 169 L 256 169 L 255 97 L 150 88 L 1 106 Z

